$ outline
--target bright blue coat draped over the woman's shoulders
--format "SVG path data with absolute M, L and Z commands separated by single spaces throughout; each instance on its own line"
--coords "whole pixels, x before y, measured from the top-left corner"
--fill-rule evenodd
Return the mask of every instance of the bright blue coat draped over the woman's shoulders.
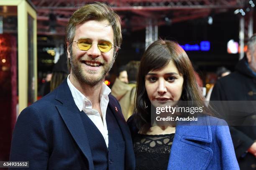
M 168 170 L 239 170 L 226 122 L 209 116 L 198 117 L 197 124 L 178 122 Z

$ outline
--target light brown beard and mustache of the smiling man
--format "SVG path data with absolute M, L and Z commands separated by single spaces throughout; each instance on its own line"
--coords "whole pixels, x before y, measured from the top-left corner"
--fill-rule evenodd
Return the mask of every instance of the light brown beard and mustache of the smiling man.
M 84 70 L 82 69 L 82 63 L 79 60 L 87 60 L 87 61 L 99 61 L 102 63 L 103 71 L 100 73 L 100 76 L 95 77 L 93 74 L 96 74 L 98 71 L 94 70 Z M 92 59 L 90 57 L 82 57 L 79 58 L 79 60 L 76 60 L 73 57 L 72 51 L 70 51 L 70 64 L 71 64 L 71 70 L 73 72 L 73 75 L 75 78 L 80 81 L 81 83 L 88 84 L 90 86 L 95 86 L 96 84 L 100 83 L 106 76 L 106 74 L 110 71 L 112 68 L 114 62 L 115 62 L 115 57 L 113 57 L 112 61 L 110 63 L 107 63 L 106 61 L 99 60 L 99 59 Z M 87 76 L 87 74 L 90 74 L 91 76 Z

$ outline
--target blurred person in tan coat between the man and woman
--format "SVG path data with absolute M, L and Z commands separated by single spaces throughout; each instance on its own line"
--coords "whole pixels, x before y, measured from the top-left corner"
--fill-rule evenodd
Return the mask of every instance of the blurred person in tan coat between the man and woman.
M 128 84 L 116 79 L 111 89 L 112 95 L 120 103 L 125 120 L 133 114 L 139 64 L 140 61 L 130 61 L 126 65 Z

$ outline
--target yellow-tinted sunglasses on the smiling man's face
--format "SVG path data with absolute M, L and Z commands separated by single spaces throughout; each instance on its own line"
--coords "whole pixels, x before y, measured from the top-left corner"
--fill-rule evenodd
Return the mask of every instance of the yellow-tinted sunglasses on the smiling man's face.
M 78 41 L 74 41 L 74 42 L 77 43 L 78 48 L 82 51 L 89 50 L 93 44 L 92 42 L 90 42 L 88 40 L 78 40 Z M 113 46 L 115 46 L 115 44 L 112 44 L 109 41 L 100 41 L 100 43 L 97 43 L 97 46 L 101 52 L 106 53 L 106 52 L 110 51 L 110 49 L 113 48 Z

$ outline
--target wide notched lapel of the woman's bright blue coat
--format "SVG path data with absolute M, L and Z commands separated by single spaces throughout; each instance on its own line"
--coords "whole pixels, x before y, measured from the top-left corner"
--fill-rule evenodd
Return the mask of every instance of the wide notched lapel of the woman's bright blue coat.
M 212 157 L 207 143 L 212 142 L 209 117 L 198 117 L 202 125 L 178 123 L 169 158 L 168 170 L 206 169 Z M 205 124 L 205 125 L 203 125 Z

